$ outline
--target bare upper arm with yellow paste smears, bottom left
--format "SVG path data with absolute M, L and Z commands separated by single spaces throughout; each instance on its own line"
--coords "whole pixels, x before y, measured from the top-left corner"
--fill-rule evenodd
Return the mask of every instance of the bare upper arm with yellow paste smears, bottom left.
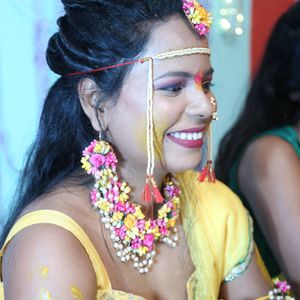
M 20 232 L 3 258 L 6 300 L 96 299 L 92 263 L 80 242 L 54 225 Z

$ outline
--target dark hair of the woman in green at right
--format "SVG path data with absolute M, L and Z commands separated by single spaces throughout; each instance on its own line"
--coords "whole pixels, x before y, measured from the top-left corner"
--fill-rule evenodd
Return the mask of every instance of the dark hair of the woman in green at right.
M 243 112 L 221 141 L 216 160 L 218 179 L 228 183 L 232 163 L 256 134 L 299 122 L 299 70 L 300 2 L 275 25 Z

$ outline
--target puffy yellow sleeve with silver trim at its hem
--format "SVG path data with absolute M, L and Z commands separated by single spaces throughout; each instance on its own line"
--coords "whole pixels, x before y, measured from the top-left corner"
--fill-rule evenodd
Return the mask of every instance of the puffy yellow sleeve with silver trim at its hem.
M 202 219 L 213 245 L 220 280 L 242 275 L 253 257 L 253 225 L 241 200 L 221 182 L 201 187 Z

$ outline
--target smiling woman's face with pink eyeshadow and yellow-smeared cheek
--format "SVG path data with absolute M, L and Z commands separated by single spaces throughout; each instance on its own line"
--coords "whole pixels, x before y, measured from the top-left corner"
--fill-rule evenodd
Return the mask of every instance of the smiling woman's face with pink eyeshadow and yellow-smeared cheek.
M 208 47 L 207 40 L 200 40 L 188 24 L 174 17 L 153 30 L 143 57 L 190 47 Z M 136 171 L 145 171 L 147 164 L 148 67 L 147 62 L 134 66 L 117 104 L 106 112 L 109 139 L 123 163 Z M 196 74 L 202 78 L 202 88 L 195 83 Z M 156 168 L 173 173 L 192 169 L 201 161 L 203 135 L 213 113 L 209 56 L 154 60 L 153 77 Z

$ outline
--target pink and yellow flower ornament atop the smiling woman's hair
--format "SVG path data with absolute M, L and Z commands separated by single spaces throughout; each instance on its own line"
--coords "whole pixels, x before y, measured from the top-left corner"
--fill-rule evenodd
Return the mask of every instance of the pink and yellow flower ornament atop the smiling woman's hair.
M 211 14 L 196 0 L 183 0 L 183 11 L 199 35 L 207 35 L 211 24 Z

